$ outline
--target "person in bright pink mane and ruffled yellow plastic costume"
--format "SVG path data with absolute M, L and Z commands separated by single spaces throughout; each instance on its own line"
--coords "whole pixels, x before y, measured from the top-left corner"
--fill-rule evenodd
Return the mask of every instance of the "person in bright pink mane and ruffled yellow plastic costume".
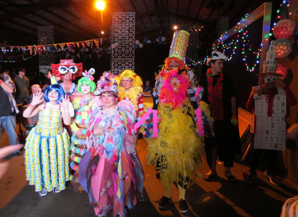
M 202 166 L 201 157 L 205 156 L 204 133 L 197 133 L 198 128 L 202 127 L 197 126 L 195 122 L 194 107 L 189 100 L 192 96 L 188 94 L 190 81 L 186 71 L 181 72 L 176 68 L 162 73 L 161 76 L 163 76 L 163 85 L 159 98 L 156 92 L 151 92 L 154 103 L 152 109 L 158 110 L 160 119 L 159 131 L 156 138 L 146 135 L 146 132 L 143 133 L 148 142 L 146 158 L 148 164 L 155 166 L 157 177 L 162 181 L 165 189 L 165 196 L 159 200 L 158 207 L 165 207 L 171 200 L 171 185 L 176 181 L 179 191 L 179 209 L 184 213 L 188 210 L 185 201 L 186 188 L 196 182 L 196 176 L 202 178 L 197 169 Z M 195 108 L 197 107 L 198 105 Z M 202 103 L 197 110 L 206 111 L 205 117 L 211 120 L 207 104 Z M 153 121 L 157 120 L 153 117 Z

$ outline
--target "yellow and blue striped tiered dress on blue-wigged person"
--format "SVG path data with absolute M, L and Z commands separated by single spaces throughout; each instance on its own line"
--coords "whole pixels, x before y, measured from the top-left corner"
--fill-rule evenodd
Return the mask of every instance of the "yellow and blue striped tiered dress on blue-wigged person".
M 42 108 L 25 144 L 26 180 L 35 191 L 66 188 L 69 180 L 69 135 L 62 126 L 60 108 Z

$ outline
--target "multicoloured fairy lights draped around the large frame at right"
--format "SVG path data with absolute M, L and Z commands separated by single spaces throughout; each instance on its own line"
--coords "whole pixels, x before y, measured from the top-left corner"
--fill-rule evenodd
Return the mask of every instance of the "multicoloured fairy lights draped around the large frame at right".
M 280 3 L 280 5 L 279 5 L 280 7 L 277 10 L 276 19 L 270 29 L 270 33 L 267 36 L 265 36 L 264 41 L 261 42 L 260 47 L 257 49 L 257 51 L 252 52 L 255 55 L 256 61 L 254 61 L 254 64 L 252 64 L 251 66 L 249 66 L 247 63 L 247 50 L 252 51 L 252 45 L 249 44 L 250 40 L 248 39 L 248 31 L 245 29 L 247 27 L 247 25 L 243 29 L 241 29 L 237 33 L 235 33 L 235 35 L 233 36 L 233 39 L 227 43 L 225 43 L 222 38 L 222 36 L 225 33 L 227 33 L 227 32 L 224 32 L 218 39 L 218 43 L 217 43 L 216 47 L 213 47 L 213 50 L 218 51 L 218 49 L 221 49 L 223 53 L 228 53 L 231 50 L 231 54 L 229 55 L 229 58 L 228 58 L 228 61 L 230 61 L 233 58 L 233 55 L 236 54 L 237 50 L 240 48 L 240 42 L 242 42 L 242 50 L 241 50 L 241 54 L 243 55 L 242 60 L 245 62 L 246 70 L 253 72 L 255 70 L 256 65 L 258 63 L 260 63 L 259 58 L 260 58 L 260 53 L 262 51 L 261 47 L 265 41 L 271 40 L 272 31 L 274 30 L 274 25 L 276 25 L 277 21 L 279 21 L 281 9 L 283 6 L 285 6 L 285 4 L 286 4 L 285 0 L 283 0 L 282 3 Z M 286 6 L 289 7 L 290 4 L 287 4 Z M 244 21 L 248 15 L 249 14 L 245 14 L 245 16 L 242 17 L 241 20 L 238 22 L 238 24 L 240 22 Z M 236 31 L 236 29 L 235 29 L 235 31 Z M 240 35 L 241 32 L 242 32 L 242 36 Z M 242 40 L 240 39 L 240 36 L 241 36 Z M 250 59 L 252 59 L 252 58 L 250 58 Z M 192 58 L 188 58 L 188 57 L 184 58 L 185 65 L 190 66 L 190 67 L 196 66 L 198 64 L 206 64 L 206 62 L 207 62 L 207 57 L 204 58 L 204 60 L 202 60 L 202 61 L 193 61 Z

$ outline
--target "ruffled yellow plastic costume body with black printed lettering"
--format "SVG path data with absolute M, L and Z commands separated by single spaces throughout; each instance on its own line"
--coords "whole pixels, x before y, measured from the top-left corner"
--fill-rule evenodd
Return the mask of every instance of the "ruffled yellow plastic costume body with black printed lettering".
M 198 136 L 194 122 L 194 109 L 189 98 L 179 108 L 164 103 L 158 106 L 157 138 L 145 138 L 148 142 L 147 163 L 160 173 L 162 184 L 176 181 L 184 189 L 195 183 L 195 177 L 202 177 L 196 170 L 201 168 L 204 153 L 204 137 Z

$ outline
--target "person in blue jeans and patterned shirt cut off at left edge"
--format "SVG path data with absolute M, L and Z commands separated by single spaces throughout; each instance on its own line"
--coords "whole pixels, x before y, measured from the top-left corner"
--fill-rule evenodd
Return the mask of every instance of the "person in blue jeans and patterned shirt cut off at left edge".
M 12 93 L 15 92 L 13 81 L 8 75 L 0 75 L 0 124 L 3 125 L 9 138 L 9 145 L 19 144 L 14 115 L 19 113 Z M 1 136 L 1 131 L 0 131 Z M 16 155 L 23 153 L 19 149 L 13 151 Z

